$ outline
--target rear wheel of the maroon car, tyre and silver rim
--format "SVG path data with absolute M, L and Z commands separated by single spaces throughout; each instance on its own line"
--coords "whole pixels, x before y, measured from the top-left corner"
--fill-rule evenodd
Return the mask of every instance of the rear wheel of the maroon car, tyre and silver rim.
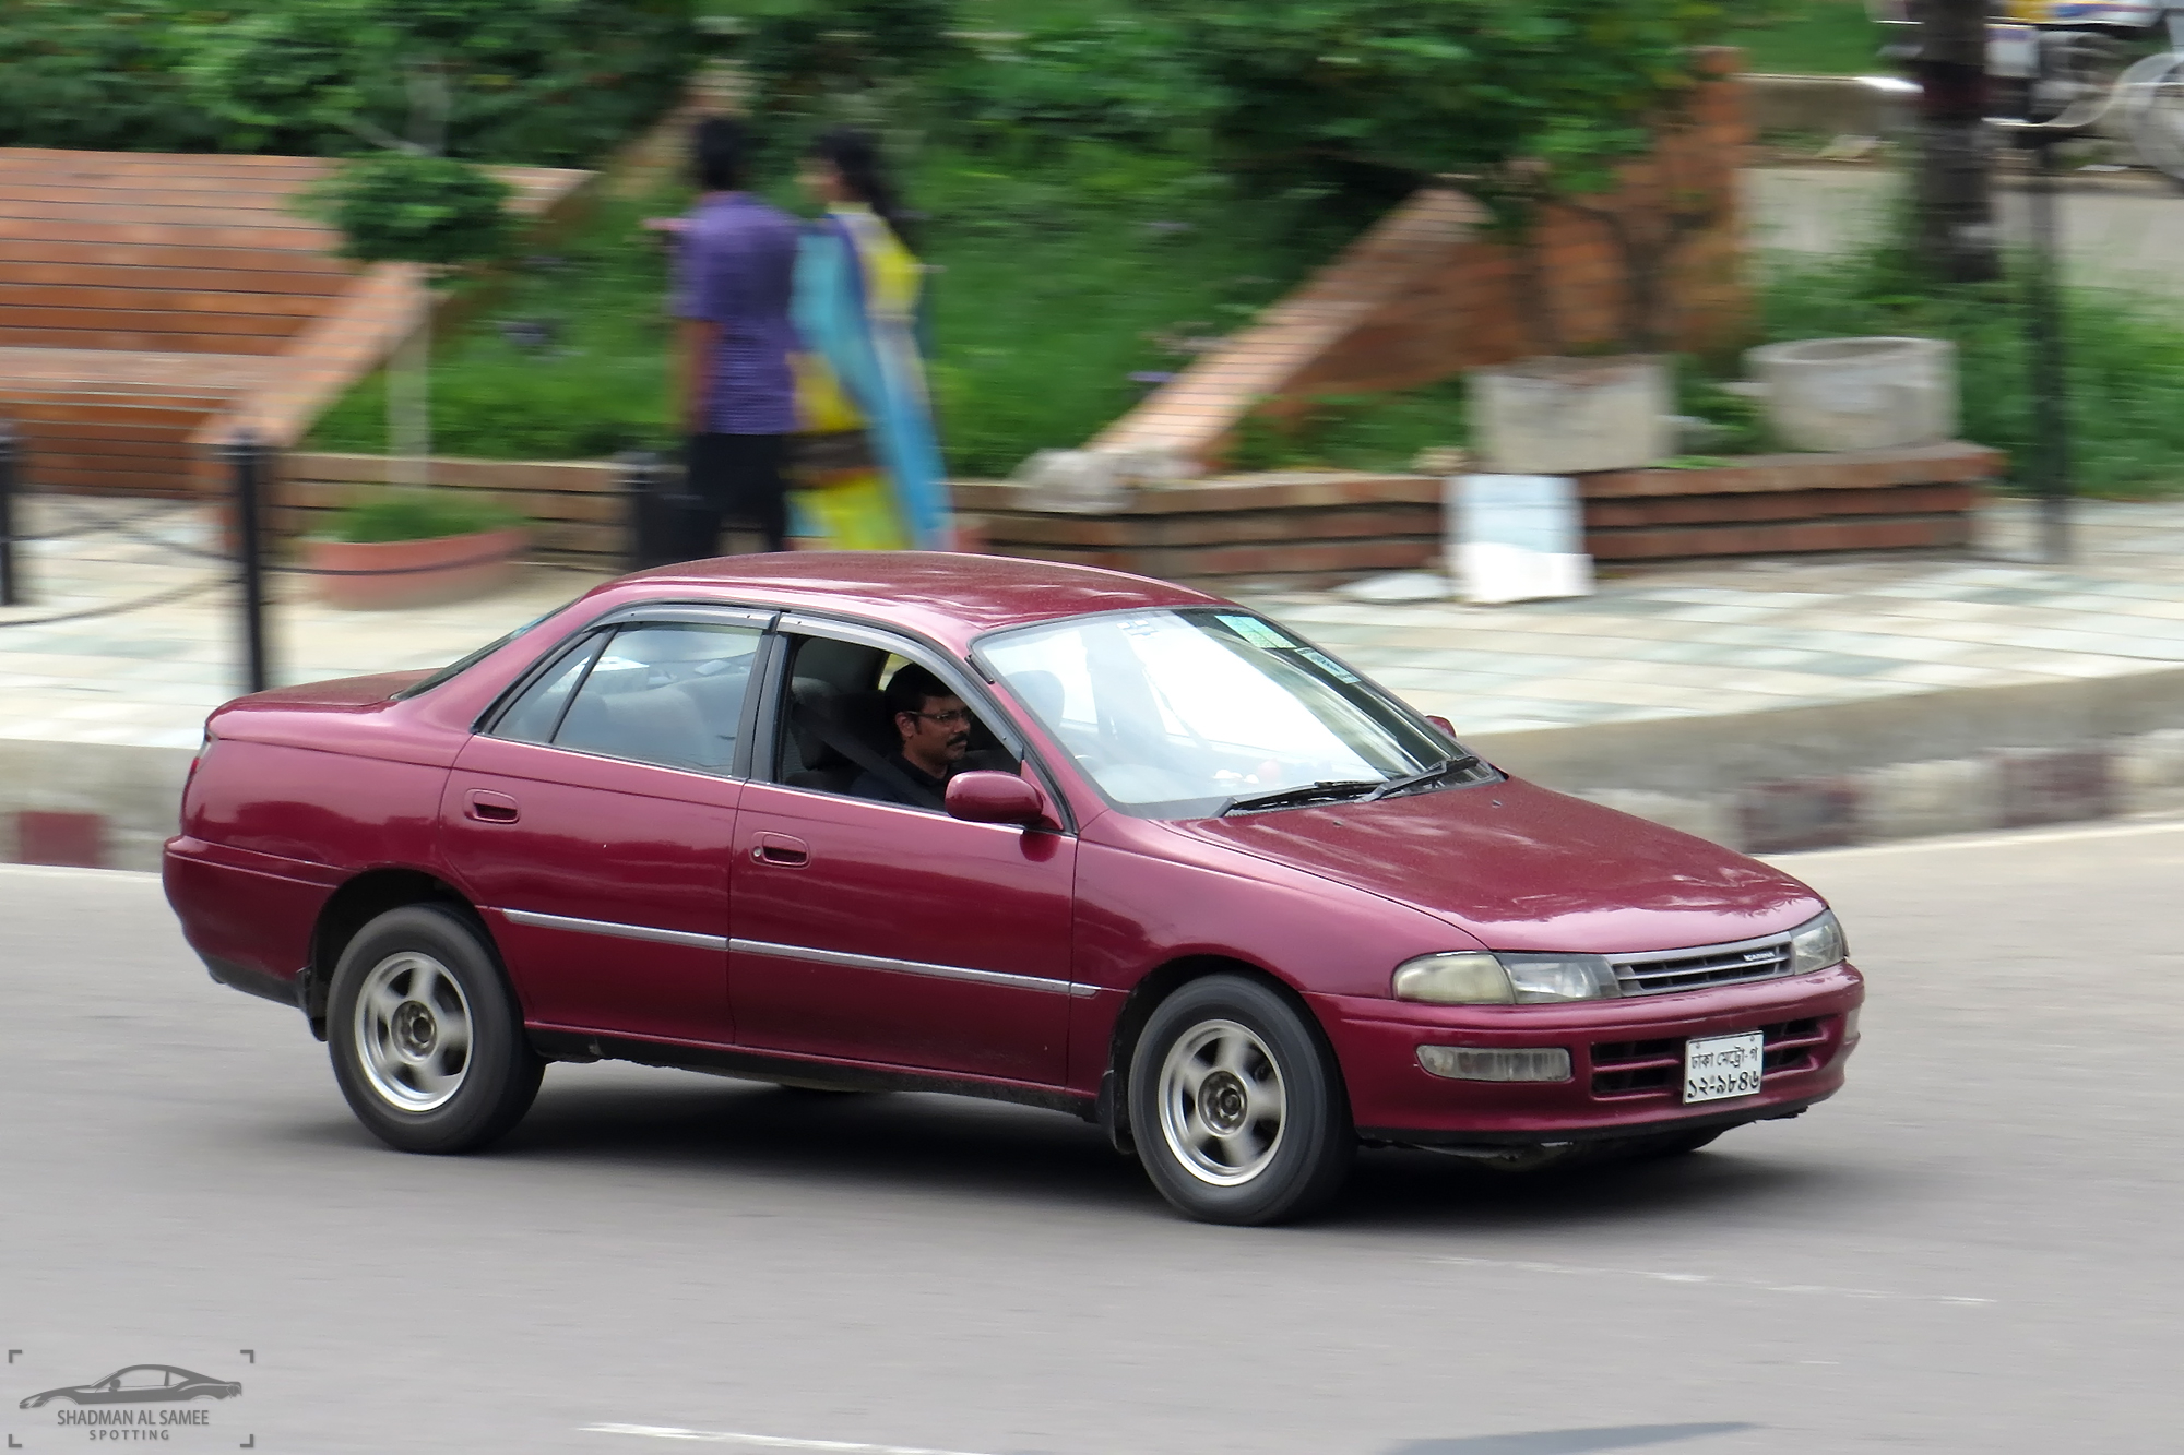
M 494 1143 L 531 1110 L 544 1073 L 485 935 L 439 904 L 389 909 L 356 933 L 325 1029 L 349 1110 L 397 1151 Z

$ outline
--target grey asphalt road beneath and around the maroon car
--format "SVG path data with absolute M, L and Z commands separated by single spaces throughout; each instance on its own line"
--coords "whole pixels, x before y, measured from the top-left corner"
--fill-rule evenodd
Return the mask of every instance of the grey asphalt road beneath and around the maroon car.
M 1789 863 L 1872 977 L 1832 1103 L 1677 1164 L 1374 1154 L 1286 1230 L 1048 1112 L 627 1066 L 382 1151 L 151 878 L 0 870 L 0 1427 L 153 1433 L 15 1407 L 151 1361 L 245 1385 L 170 1451 L 2175 1451 L 2184 824 Z

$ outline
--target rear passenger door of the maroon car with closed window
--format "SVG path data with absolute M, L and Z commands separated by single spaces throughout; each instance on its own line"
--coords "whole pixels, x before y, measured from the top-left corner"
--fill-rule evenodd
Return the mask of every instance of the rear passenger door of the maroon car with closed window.
M 568 642 L 470 738 L 441 843 L 531 1025 L 725 1044 L 727 865 L 771 614 L 690 607 Z

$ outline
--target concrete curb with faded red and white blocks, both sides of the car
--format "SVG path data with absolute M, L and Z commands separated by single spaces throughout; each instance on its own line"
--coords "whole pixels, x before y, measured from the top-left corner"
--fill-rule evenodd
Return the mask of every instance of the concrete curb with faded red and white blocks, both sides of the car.
M 1747 854 L 2184 811 L 2184 671 L 1465 734 Z M 159 870 L 190 749 L 0 738 L 0 863 Z

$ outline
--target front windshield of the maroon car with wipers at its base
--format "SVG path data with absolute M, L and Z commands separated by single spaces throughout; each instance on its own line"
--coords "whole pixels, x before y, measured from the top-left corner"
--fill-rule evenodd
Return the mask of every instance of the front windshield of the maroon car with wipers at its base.
M 1492 776 L 1343 664 L 1241 610 L 1079 616 L 987 638 L 978 655 L 1101 793 L 1140 817 Z M 1441 765 L 1448 773 L 1433 771 Z

